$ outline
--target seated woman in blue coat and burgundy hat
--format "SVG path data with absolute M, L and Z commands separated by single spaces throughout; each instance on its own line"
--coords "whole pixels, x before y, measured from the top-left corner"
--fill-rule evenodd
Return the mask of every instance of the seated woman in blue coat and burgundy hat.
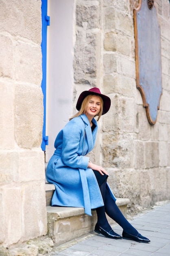
M 96 209 L 98 220 L 94 231 L 98 234 L 148 243 L 150 240 L 139 234 L 117 207 L 107 184 L 107 171 L 85 156 L 94 148 L 97 121 L 109 111 L 110 105 L 110 98 L 98 88 L 80 94 L 76 104 L 78 113 L 57 135 L 56 150 L 47 166 L 46 178 L 55 185 L 52 206 L 83 207 L 90 216 L 91 209 Z M 97 121 L 94 117 L 98 117 Z M 112 230 L 105 213 L 123 228 L 122 236 Z

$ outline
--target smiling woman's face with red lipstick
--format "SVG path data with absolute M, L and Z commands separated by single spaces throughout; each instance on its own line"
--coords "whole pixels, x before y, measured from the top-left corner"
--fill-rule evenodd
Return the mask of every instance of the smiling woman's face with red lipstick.
M 88 118 L 92 119 L 99 113 L 100 108 L 101 108 L 100 98 L 98 96 L 93 96 L 89 100 L 89 104 L 87 105 L 87 109 L 85 110 L 85 115 L 87 115 Z

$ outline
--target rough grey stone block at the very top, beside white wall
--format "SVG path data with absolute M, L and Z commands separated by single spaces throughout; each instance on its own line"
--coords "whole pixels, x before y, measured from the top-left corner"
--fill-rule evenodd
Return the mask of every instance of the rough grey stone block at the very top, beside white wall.
M 85 29 L 98 28 L 100 25 L 100 7 L 93 6 L 76 6 L 76 25 Z

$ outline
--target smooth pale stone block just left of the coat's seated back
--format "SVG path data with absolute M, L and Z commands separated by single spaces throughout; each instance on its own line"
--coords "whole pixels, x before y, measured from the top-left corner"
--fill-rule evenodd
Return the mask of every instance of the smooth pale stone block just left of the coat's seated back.
M 19 181 L 27 182 L 45 179 L 44 152 L 25 150 L 20 152 Z

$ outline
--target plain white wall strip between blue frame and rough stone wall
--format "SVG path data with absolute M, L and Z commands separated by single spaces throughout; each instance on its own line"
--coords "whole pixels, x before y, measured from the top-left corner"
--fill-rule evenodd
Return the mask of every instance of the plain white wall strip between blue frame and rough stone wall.
M 48 0 L 46 162 L 54 140 L 72 116 L 74 0 Z

